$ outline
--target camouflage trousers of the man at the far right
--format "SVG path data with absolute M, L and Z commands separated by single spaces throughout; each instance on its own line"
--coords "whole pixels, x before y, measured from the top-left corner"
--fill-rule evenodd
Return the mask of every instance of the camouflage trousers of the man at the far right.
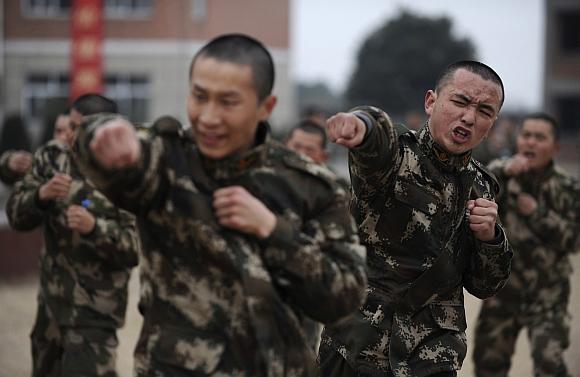
M 570 318 L 566 309 L 524 316 L 510 310 L 513 305 L 497 297 L 483 302 L 473 350 L 476 376 L 508 375 L 516 340 L 523 328 L 527 329 L 530 341 L 534 376 L 569 376 L 564 362 L 564 351 L 570 344 Z

